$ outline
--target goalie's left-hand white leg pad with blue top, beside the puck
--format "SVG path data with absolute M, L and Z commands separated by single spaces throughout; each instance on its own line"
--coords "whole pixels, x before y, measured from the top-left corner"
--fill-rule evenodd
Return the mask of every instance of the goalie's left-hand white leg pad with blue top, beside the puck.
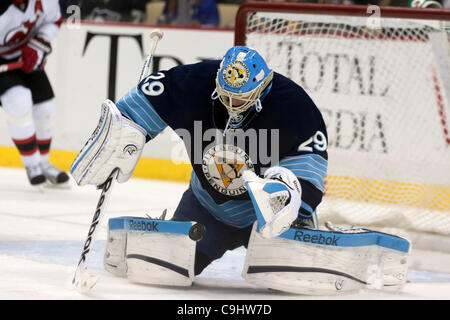
M 195 278 L 196 241 L 204 232 L 194 222 L 110 219 L 104 268 L 136 283 L 190 286 Z

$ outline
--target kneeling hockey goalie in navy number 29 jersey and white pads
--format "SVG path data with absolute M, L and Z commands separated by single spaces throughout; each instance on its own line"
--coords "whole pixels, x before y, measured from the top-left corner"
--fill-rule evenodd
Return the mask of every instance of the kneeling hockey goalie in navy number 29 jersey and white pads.
M 188 286 L 211 262 L 244 246 L 242 275 L 257 287 L 329 295 L 405 284 L 407 240 L 319 227 L 325 123 L 307 93 L 257 51 L 232 47 L 221 61 L 151 74 L 116 103 L 105 101 L 72 176 L 79 185 L 101 185 L 118 168 L 117 180 L 127 181 L 145 143 L 166 127 L 185 143 L 193 168 L 189 188 L 170 220 L 109 220 L 109 272 L 138 283 Z

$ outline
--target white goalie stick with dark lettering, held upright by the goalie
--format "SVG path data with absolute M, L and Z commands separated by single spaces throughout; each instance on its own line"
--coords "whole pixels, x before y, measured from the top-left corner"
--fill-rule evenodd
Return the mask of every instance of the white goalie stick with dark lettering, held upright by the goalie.
M 139 82 L 141 82 L 146 76 L 153 54 L 155 53 L 156 46 L 158 44 L 158 41 L 162 39 L 162 36 L 163 33 L 159 29 L 155 29 L 150 33 L 151 39 L 150 51 L 147 55 L 147 58 L 145 59 L 144 66 L 142 68 L 142 72 L 139 77 Z M 119 169 L 113 170 L 113 172 L 111 172 L 111 174 L 109 175 L 108 179 L 106 179 L 106 181 L 102 185 L 98 186 L 99 189 L 102 189 L 102 192 L 100 195 L 100 199 L 98 200 L 97 203 L 94 217 L 89 227 L 88 235 L 81 252 L 80 260 L 78 262 L 75 274 L 72 279 L 72 285 L 75 287 L 75 289 L 79 290 L 80 292 L 87 292 L 91 290 L 97 283 L 98 279 L 100 278 L 100 276 L 98 275 L 89 274 L 87 272 L 87 265 L 95 245 L 96 236 L 98 234 L 98 226 L 100 225 L 102 218 L 104 216 L 105 208 L 106 205 L 108 204 L 111 190 L 118 174 Z

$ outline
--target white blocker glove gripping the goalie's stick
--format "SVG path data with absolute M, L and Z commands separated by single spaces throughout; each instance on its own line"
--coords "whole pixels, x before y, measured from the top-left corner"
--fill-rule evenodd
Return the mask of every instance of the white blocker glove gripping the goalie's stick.
M 145 135 L 145 130 L 124 118 L 112 101 L 104 101 L 97 128 L 75 158 L 70 173 L 80 186 L 101 185 L 119 168 L 117 181 L 127 181 L 142 154 Z

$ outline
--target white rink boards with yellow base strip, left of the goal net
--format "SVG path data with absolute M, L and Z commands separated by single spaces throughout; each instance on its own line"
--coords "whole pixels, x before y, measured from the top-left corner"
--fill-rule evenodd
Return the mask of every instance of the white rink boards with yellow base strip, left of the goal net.
M 56 95 L 55 135 L 50 158 L 56 166 L 69 170 L 98 123 L 102 101 L 107 98 L 117 101 L 136 85 L 153 28 L 123 23 L 62 25 L 46 66 Z M 231 29 L 174 27 L 161 30 L 164 38 L 158 44 L 153 71 L 220 59 L 234 40 Z M 9 138 L 5 118 L 1 118 L 0 166 L 22 167 L 19 153 Z M 146 145 L 134 176 L 188 181 L 191 166 L 187 162 L 181 140 L 168 128 Z

